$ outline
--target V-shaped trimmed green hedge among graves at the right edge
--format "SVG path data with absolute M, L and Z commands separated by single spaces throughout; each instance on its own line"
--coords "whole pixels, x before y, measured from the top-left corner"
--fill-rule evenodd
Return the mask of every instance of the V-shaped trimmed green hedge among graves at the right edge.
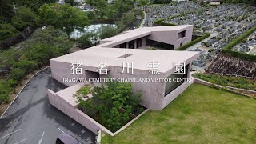
M 245 38 L 249 37 L 250 34 L 254 33 L 255 30 L 256 30 L 256 26 L 252 27 L 250 30 L 247 30 L 246 33 L 242 34 L 240 37 L 235 38 L 232 42 L 228 43 L 226 46 L 222 48 L 222 53 L 228 54 L 235 58 L 241 58 L 247 61 L 256 62 L 256 55 L 246 54 L 246 53 L 232 50 L 234 46 L 236 46 L 238 43 L 241 43 L 242 40 L 244 40 Z

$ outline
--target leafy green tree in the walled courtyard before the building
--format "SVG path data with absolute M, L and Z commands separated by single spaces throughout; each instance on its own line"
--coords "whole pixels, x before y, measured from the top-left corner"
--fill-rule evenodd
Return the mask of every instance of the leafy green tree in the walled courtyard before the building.
M 93 98 L 84 101 L 82 98 L 90 93 Z M 141 93 L 134 94 L 130 82 L 106 82 L 106 86 L 93 90 L 90 86 L 82 87 L 74 98 L 78 99 L 79 109 L 114 132 L 130 121 L 130 113 L 141 102 Z

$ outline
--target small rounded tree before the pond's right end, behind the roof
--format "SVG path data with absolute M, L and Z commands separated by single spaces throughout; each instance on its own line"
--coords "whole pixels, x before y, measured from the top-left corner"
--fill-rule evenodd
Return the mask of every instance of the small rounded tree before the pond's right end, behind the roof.
M 110 37 L 113 37 L 114 35 L 118 34 L 118 30 L 114 26 L 102 25 L 100 27 L 99 31 L 100 31 L 100 34 L 99 34 L 100 39 L 110 38 Z

